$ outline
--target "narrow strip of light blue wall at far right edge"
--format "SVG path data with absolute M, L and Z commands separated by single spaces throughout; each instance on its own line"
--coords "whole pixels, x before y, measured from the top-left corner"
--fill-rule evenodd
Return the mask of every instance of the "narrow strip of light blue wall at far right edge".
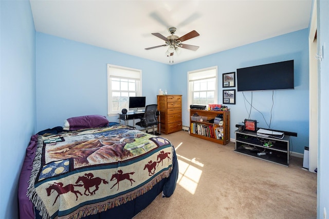
M 319 63 L 319 85 L 320 85 L 320 113 L 319 113 L 319 147 L 318 147 L 318 218 L 323 218 L 324 208 L 326 218 L 329 216 L 329 1 L 317 1 L 318 25 L 317 42 L 318 51 L 324 46 L 323 60 Z

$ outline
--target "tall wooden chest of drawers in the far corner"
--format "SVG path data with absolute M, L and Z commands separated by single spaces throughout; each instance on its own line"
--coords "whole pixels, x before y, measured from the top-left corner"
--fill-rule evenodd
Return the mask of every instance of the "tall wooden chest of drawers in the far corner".
M 161 133 L 167 135 L 182 130 L 181 95 L 158 95 L 157 102 Z

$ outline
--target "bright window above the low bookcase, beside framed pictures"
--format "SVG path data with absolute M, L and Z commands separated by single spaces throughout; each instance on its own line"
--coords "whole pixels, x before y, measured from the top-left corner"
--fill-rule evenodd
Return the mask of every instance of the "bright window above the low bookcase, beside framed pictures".
M 217 103 L 217 66 L 188 71 L 188 109 Z

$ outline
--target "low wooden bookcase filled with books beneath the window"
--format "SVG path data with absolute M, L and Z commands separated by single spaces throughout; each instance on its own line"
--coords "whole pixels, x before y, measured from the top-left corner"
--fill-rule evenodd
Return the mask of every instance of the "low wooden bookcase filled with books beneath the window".
M 222 122 L 210 122 L 215 117 L 221 117 Z M 230 111 L 190 109 L 190 135 L 224 145 L 229 143 Z

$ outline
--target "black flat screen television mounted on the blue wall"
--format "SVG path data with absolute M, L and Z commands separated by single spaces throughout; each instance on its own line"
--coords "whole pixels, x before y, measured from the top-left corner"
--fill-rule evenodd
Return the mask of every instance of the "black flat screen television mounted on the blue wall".
M 294 89 L 294 60 L 236 69 L 237 91 Z

